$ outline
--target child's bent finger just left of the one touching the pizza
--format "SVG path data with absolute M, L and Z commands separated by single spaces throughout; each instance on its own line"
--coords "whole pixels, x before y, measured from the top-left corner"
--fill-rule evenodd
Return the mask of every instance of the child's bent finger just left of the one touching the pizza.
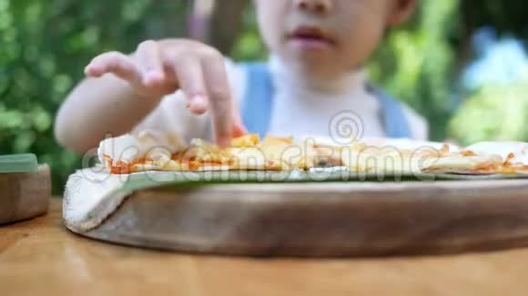
M 207 90 L 204 74 L 198 58 L 180 58 L 176 62 L 175 72 L 178 84 L 188 101 L 192 113 L 203 114 L 208 110 Z

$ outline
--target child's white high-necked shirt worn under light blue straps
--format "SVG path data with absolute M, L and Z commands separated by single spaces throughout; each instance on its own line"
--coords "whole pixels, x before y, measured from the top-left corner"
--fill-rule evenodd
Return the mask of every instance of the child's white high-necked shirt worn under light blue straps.
M 240 104 L 247 84 L 245 71 L 237 64 L 226 62 L 233 99 Z M 348 125 L 356 136 L 381 138 L 386 134 L 380 116 L 380 104 L 365 88 L 362 71 L 343 75 L 330 84 L 317 88 L 306 85 L 278 57 L 269 62 L 275 88 L 269 133 L 277 136 L 333 137 L 339 128 Z M 411 128 L 412 139 L 425 141 L 428 127 L 425 120 L 402 104 L 403 113 Z M 351 113 L 350 113 L 351 112 Z M 157 108 L 137 124 L 133 132 L 156 130 L 178 133 L 189 141 L 210 138 L 208 113 L 194 115 L 185 107 L 181 92 L 163 98 Z M 342 134 L 346 135 L 346 134 Z M 348 135 L 350 136 L 350 135 Z

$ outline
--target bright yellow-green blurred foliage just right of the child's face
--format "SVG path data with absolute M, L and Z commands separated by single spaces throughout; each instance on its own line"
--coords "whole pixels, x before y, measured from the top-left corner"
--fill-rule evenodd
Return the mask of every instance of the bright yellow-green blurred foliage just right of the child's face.
M 411 105 L 430 123 L 430 137 L 442 140 L 452 113 L 460 0 L 421 1 L 413 20 L 392 30 L 369 64 L 371 78 Z

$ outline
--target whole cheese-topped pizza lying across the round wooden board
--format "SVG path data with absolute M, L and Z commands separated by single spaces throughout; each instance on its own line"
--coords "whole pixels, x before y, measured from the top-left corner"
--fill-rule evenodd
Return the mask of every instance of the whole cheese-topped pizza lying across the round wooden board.
M 476 143 L 467 148 L 408 139 L 364 139 L 338 145 L 320 137 L 260 139 L 247 134 L 218 147 L 185 144 L 168 133 L 104 140 L 98 156 L 115 174 L 146 171 L 308 171 L 340 167 L 356 173 L 528 174 L 528 143 Z

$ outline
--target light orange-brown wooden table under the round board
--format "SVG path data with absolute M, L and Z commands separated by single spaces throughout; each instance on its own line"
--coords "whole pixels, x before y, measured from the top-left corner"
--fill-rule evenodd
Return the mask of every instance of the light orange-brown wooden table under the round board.
M 0 227 L 0 295 L 527 295 L 528 249 L 444 257 L 245 259 L 138 250 L 47 216 Z

